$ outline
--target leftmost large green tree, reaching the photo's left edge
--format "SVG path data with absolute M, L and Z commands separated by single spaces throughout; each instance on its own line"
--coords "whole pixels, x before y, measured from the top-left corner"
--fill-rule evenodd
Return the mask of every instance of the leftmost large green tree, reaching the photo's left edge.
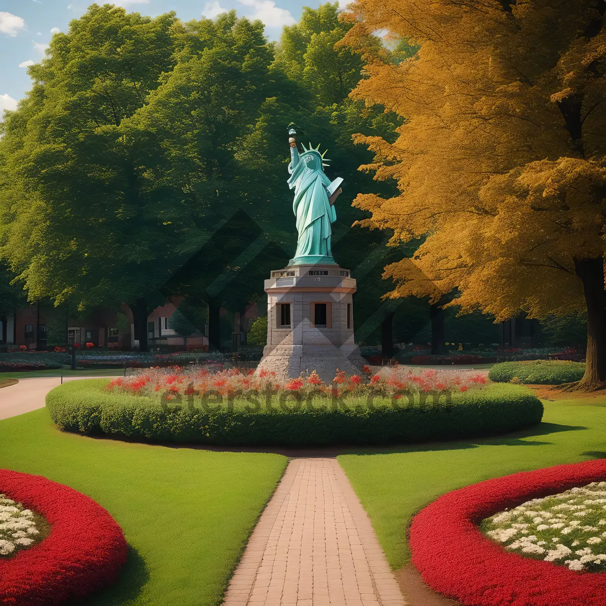
M 142 349 L 175 258 L 164 210 L 179 208 L 146 187 L 122 122 L 173 67 L 174 25 L 174 13 L 150 19 L 93 4 L 53 36 L 1 127 L 0 254 L 28 299 L 82 309 L 125 301 Z

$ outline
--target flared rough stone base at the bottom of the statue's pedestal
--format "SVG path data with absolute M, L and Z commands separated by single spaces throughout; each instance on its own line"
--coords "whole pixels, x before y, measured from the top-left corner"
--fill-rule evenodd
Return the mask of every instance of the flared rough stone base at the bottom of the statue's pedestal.
M 337 369 L 347 375 L 359 375 L 365 364 L 358 347 L 324 348 L 301 345 L 265 347 L 264 356 L 256 373 L 261 369 L 276 373 L 276 381 L 310 375 L 314 370 L 322 381 L 330 383 Z

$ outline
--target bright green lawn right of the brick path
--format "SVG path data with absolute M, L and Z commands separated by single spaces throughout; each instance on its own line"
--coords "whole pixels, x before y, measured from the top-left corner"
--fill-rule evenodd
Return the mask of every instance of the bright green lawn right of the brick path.
M 544 404 L 544 422 L 534 430 L 339 456 L 393 568 L 410 557 L 411 514 L 439 495 L 516 471 L 606 458 L 606 396 Z

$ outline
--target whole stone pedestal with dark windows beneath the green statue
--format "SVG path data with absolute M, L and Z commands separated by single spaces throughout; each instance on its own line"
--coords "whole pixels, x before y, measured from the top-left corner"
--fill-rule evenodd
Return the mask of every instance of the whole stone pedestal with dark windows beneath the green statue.
M 267 345 L 259 364 L 277 381 L 315 370 L 322 381 L 337 368 L 348 375 L 364 364 L 353 337 L 356 281 L 336 264 L 290 265 L 265 280 Z M 285 307 L 284 307 L 285 306 Z

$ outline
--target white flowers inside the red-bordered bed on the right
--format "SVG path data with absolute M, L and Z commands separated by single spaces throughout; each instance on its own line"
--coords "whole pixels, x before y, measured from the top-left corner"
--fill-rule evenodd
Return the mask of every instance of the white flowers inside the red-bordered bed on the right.
M 493 541 L 531 558 L 606 571 L 606 482 L 532 499 L 481 527 Z

